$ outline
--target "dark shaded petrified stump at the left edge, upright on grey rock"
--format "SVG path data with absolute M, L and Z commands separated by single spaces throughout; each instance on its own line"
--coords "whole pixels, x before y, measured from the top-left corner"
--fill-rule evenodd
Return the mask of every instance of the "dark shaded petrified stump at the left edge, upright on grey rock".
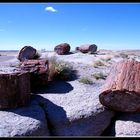
M 0 73 L 0 109 L 24 106 L 29 100 L 29 72 Z

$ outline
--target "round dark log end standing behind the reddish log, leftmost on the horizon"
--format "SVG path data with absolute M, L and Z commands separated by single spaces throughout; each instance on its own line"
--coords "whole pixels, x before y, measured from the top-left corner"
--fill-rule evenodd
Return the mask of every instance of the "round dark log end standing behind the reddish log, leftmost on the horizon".
M 18 54 L 18 59 L 24 61 L 26 59 L 34 59 L 36 57 L 37 51 L 31 46 L 24 46 Z

